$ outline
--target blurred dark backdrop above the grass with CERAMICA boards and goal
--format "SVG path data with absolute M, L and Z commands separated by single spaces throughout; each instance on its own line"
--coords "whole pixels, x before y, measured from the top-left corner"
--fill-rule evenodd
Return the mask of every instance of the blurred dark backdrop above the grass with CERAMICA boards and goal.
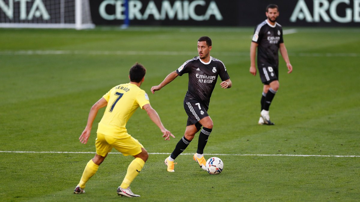
M 358 27 L 359 0 L 1 0 L 0 27 L 254 26 L 277 4 L 283 26 Z

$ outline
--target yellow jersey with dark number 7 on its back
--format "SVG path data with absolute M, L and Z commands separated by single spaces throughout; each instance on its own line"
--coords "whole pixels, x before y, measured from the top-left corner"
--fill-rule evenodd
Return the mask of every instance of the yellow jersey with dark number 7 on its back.
M 150 104 L 144 90 L 132 83 L 113 87 L 103 98 L 108 102 L 103 118 L 98 125 L 98 133 L 113 137 L 129 137 L 126 123 L 135 110 Z

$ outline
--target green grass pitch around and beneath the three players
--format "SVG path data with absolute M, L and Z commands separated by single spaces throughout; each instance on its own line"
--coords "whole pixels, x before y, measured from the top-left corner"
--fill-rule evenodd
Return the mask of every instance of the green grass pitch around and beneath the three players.
M 77 195 L 73 189 L 94 153 L 4 151 L 95 152 L 103 110 L 89 142 L 78 141 L 90 107 L 129 82 L 135 62 L 147 68 L 141 88 L 176 136 L 163 141 L 140 109 L 128 122 L 128 132 L 151 153 L 131 184 L 141 195 L 136 201 L 358 201 L 360 29 L 292 31 L 284 41 L 294 70 L 287 74 L 280 56 L 280 88 L 270 108 L 276 125 L 261 126 L 262 84 L 249 73 L 253 28 L 0 29 L 0 201 L 131 200 L 116 189 L 132 157 L 109 154 Z M 208 111 L 214 129 L 205 157 L 218 154 L 224 171 L 209 175 L 192 160 L 196 135 L 168 173 L 168 154 L 157 153 L 171 153 L 183 136 L 188 76 L 155 95 L 150 88 L 197 56 L 201 36 L 212 38 L 211 56 L 224 62 L 233 82 L 230 89 L 217 83 Z

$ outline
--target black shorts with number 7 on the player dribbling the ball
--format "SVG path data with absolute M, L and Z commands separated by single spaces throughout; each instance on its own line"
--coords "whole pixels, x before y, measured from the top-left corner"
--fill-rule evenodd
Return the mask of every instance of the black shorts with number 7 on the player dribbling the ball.
M 197 101 L 197 100 L 187 100 L 184 101 L 184 109 L 186 114 L 188 115 L 188 121 L 186 123 L 186 126 L 193 125 L 198 128 L 201 127 L 201 124 L 198 123 L 199 120 L 205 118 L 206 116 L 209 116 L 207 114 L 206 107 L 204 105 Z

